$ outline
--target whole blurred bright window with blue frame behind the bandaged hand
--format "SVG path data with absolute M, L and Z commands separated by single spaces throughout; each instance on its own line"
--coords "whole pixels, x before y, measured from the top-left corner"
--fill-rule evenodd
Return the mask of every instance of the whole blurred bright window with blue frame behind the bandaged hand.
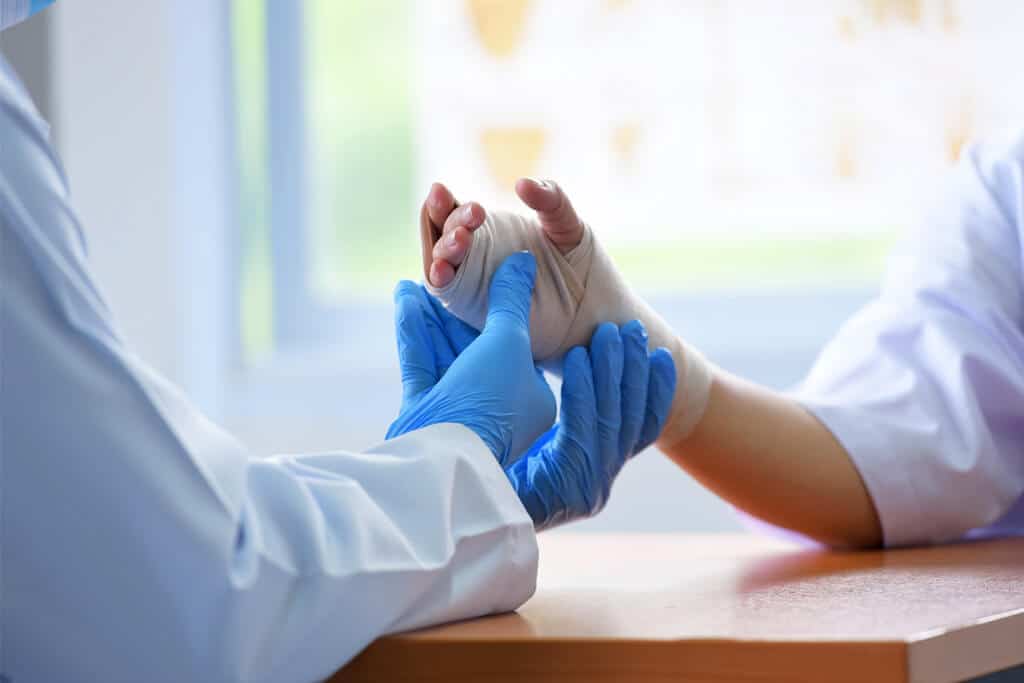
M 429 182 L 514 209 L 515 178 L 539 175 L 709 355 L 787 383 L 965 142 L 1024 115 L 1020 3 L 233 7 L 254 362 L 393 364 L 381 338 L 394 282 L 419 276 Z

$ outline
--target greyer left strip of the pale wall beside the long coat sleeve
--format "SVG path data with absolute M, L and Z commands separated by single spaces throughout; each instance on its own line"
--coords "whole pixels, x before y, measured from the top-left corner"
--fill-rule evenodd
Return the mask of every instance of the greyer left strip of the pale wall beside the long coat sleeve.
M 127 339 L 182 378 L 166 3 L 58 2 L 53 121 L 93 271 Z

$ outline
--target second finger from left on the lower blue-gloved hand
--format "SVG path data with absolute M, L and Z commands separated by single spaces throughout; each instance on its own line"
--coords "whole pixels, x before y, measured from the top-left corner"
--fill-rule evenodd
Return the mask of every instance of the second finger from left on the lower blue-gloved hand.
M 623 340 L 611 323 L 597 326 L 590 340 L 590 364 L 594 370 L 594 393 L 597 398 L 597 434 L 599 451 L 607 475 L 622 467 L 626 454 L 618 450 L 623 425 Z

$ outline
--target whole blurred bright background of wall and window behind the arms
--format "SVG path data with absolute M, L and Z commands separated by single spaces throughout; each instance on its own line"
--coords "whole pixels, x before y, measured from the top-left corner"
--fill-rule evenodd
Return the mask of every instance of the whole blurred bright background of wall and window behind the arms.
M 1024 121 L 1021 35 L 1016 0 L 60 0 L 0 51 L 125 337 L 270 454 L 385 432 L 432 180 L 559 180 L 687 339 L 793 385 Z M 737 526 L 651 451 L 574 528 Z

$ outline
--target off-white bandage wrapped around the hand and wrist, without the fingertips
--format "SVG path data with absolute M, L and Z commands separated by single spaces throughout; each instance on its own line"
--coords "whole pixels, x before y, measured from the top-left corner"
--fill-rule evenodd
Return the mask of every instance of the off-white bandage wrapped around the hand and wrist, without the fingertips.
M 490 276 L 510 254 L 529 251 L 537 258 L 529 334 L 538 362 L 560 373 L 562 356 L 573 346 L 589 345 L 599 324 L 625 325 L 639 319 L 647 329 L 648 348 L 666 347 L 676 364 L 676 395 L 660 439 L 675 443 L 700 420 L 711 389 L 711 365 L 630 290 L 589 226 L 580 244 L 562 254 L 536 219 L 488 212 L 483 224 L 473 230 L 472 243 L 455 280 L 444 287 L 433 287 L 429 270 L 439 236 L 426 211 L 421 214 L 420 225 L 427 289 L 456 316 L 482 329 L 487 317 Z

